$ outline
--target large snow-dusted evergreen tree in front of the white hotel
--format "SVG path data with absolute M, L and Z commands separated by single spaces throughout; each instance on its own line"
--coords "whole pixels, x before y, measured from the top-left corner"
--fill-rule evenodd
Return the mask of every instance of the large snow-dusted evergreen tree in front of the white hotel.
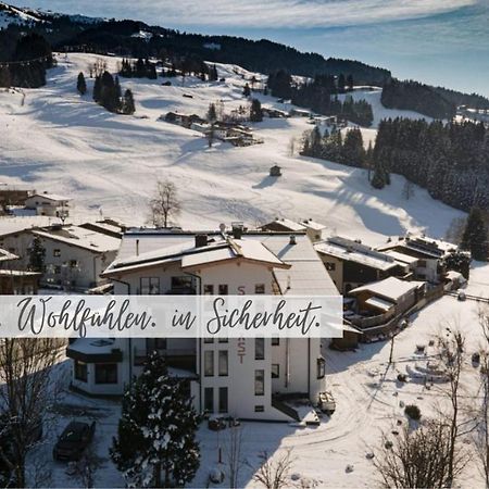
M 185 384 L 153 353 L 124 394 L 111 457 L 129 485 L 183 487 L 200 464 L 199 421 Z

